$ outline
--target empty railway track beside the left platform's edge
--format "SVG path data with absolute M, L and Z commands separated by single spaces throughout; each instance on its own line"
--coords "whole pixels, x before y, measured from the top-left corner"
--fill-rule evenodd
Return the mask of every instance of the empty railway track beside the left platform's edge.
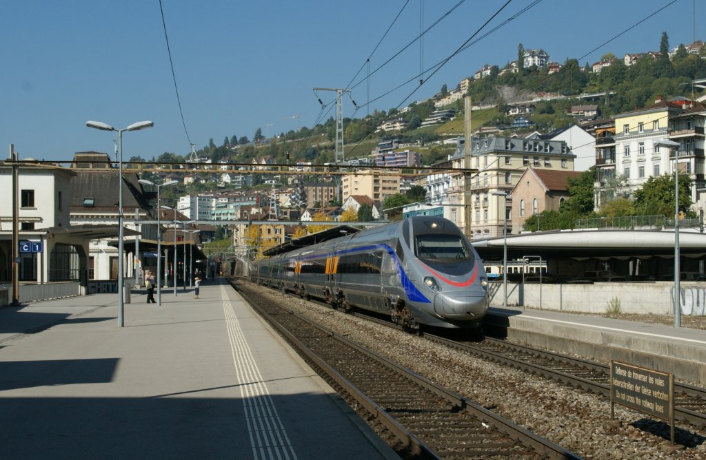
M 578 458 L 566 449 L 515 425 L 392 361 L 315 325 L 248 284 L 231 280 L 241 296 L 318 368 L 393 433 L 409 458 L 462 459 L 478 456 Z

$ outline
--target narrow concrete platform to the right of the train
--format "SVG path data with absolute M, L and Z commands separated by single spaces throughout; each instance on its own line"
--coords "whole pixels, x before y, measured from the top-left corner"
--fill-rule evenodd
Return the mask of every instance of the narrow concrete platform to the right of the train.
M 621 361 L 706 384 L 706 331 L 607 317 L 491 306 L 489 334 L 596 361 Z

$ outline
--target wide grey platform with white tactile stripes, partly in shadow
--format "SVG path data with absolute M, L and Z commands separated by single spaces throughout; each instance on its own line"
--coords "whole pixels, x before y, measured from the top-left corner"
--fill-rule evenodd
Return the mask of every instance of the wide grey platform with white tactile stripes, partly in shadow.
M 0 458 L 398 458 L 224 281 L 199 297 L 0 308 Z

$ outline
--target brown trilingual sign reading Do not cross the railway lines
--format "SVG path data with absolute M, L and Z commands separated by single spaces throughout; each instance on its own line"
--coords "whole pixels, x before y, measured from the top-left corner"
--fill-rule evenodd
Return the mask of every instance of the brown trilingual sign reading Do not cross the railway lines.
M 611 361 L 611 403 L 674 420 L 674 375 Z

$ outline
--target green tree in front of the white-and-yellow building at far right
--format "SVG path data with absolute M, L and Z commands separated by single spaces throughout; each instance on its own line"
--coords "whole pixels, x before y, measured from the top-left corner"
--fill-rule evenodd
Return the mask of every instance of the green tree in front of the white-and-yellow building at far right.
M 674 215 L 674 176 L 663 174 L 650 177 L 642 187 L 635 190 L 635 210 L 643 216 L 664 214 Z M 692 205 L 691 179 L 679 176 L 679 210 L 686 212 Z

